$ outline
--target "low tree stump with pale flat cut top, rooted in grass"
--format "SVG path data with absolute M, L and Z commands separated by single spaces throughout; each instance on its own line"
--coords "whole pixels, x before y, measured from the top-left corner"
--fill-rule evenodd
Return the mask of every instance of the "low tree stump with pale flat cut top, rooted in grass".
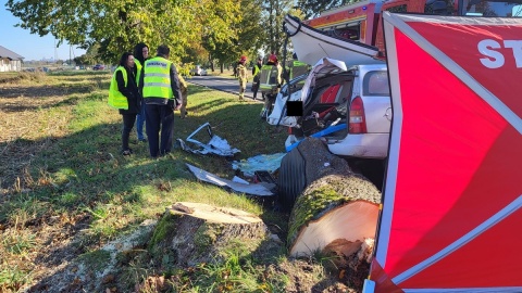
M 149 249 L 162 266 L 190 267 L 221 263 L 226 250 L 236 246 L 254 251 L 270 237 L 256 215 L 200 203 L 178 202 L 166 208 L 154 230 Z

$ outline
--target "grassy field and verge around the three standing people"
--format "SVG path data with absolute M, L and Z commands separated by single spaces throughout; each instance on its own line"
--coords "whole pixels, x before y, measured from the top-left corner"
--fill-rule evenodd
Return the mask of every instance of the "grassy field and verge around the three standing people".
M 110 78 L 108 72 L 0 75 L 0 292 L 27 289 L 58 273 L 54 270 L 65 260 L 96 255 L 103 243 L 134 231 L 146 219 L 158 219 L 177 201 L 250 212 L 278 227 L 285 238 L 287 215 L 274 212 L 272 201 L 200 182 L 185 166 L 231 179 L 236 171 L 229 160 L 179 149 L 152 160 L 135 131 L 134 154 L 122 156 L 121 115 L 107 105 Z M 261 107 L 190 85 L 189 116 L 179 119 L 176 113 L 175 138 L 185 139 L 209 122 L 214 133 L 241 151 L 234 160 L 283 152 L 286 131 L 261 122 Z M 286 259 L 284 252 L 276 254 Z M 221 283 L 212 288 L 226 289 L 222 291 L 286 291 L 288 280 L 281 273 L 236 260 L 212 271 L 178 273 L 185 279 L 173 292 L 216 292 L 202 290 L 209 283 Z M 139 283 L 152 275 L 146 264 L 128 266 L 133 276 L 127 282 Z M 223 286 L 217 272 L 231 269 L 239 281 Z M 321 278 L 315 268 L 311 271 Z

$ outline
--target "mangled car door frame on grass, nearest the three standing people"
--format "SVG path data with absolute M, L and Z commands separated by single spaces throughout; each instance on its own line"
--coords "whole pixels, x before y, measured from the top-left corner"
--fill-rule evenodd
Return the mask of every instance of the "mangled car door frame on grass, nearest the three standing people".
M 197 141 L 194 137 L 203 128 L 207 127 L 207 133 L 210 136 L 210 141 L 208 143 L 202 143 L 200 141 Z M 200 146 L 200 150 L 194 150 L 189 145 L 185 143 L 182 139 L 177 139 L 177 142 L 179 142 L 179 146 L 182 150 L 195 153 L 195 154 L 216 154 L 221 156 L 234 156 L 235 153 L 239 153 L 240 151 L 238 149 L 232 149 L 226 139 L 222 139 L 216 135 L 212 133 L 212 129 L 210 127 L 209 123 L 206 123 L 198 127 L 190 136 L 187 137 L 187 142 L 191 142 Z

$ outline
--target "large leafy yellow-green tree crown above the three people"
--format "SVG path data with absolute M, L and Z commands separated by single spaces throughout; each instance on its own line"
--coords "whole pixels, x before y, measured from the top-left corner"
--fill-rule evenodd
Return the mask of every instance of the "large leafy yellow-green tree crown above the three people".
M 167 44 L 171 59 L 179 62 L 206 31 L 226 35 L 238 7 L 233 0 L 8 0 L 5 5 L 22 21 L 17 26 L 51 34 L 58 46 L 65 40 L 83 49 L 99 44 L 97 56 L 112 63 L 139 41 L 152 51 Z

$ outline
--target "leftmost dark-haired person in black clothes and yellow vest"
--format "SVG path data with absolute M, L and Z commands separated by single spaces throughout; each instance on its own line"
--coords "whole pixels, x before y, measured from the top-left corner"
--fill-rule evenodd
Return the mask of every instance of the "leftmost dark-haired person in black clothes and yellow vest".
M 120 64 L 112 76 L 109 88 L 109 105 L 120 111 L 123 117 L 122 129 L 122 154 L 130 155 L 133 150 L 128 148 L 128 138 L 133 130 L 136 115 L 141 110 L 141 95 L 136 85 L 136 66 L 134 56 L 129 52 L 123 53 Z

